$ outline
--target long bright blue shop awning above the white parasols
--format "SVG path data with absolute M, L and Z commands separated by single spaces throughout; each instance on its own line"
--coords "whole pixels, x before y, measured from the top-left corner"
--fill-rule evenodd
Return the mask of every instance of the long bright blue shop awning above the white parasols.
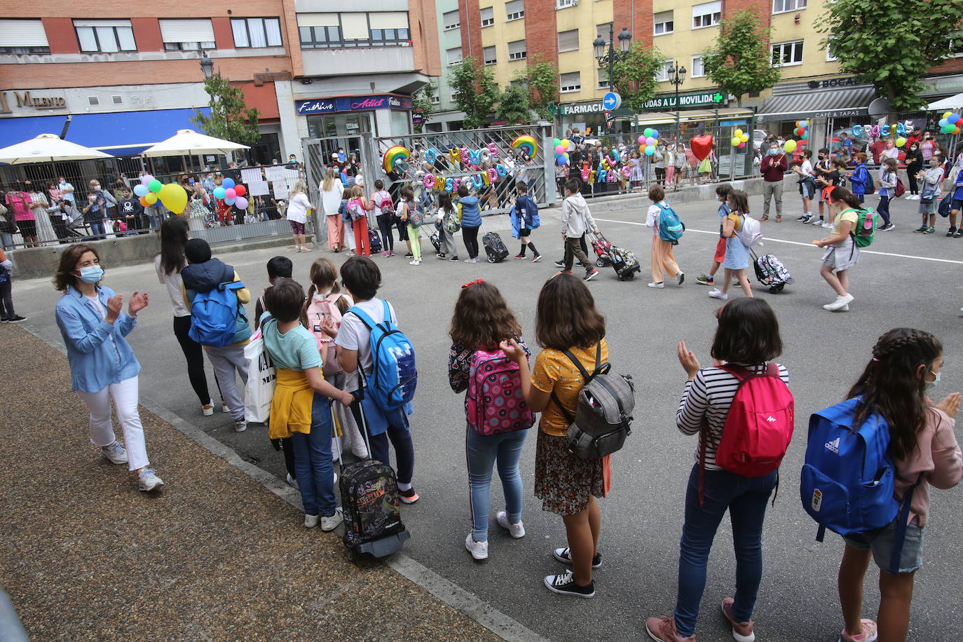
M 210 114 L 209 108 L 202 112 Z M 194 128 L 193 109 L 166 109 L 118 114 L 77 114 L 66 132 L 66 141 L 105 151 L 114 156 L 140 154 L 169 139 L 180 129 Z M 53 132 L 60 134 L 66 116 L 32 116 L 0 119 L 0 147 Z

